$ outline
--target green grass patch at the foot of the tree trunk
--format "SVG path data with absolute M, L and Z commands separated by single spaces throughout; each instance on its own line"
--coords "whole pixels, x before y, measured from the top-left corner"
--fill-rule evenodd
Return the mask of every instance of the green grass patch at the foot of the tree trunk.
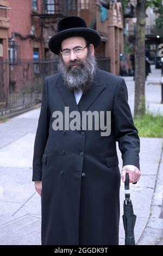
M 163 137 L 163 115 L 146 113 L 142 117 L 134 118 L 134 125 L 139 131 L 140 137 Z

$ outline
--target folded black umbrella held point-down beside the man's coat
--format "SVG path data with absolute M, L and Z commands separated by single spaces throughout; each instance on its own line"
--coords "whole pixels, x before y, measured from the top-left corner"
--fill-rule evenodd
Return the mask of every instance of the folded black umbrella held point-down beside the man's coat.
M 125 231 L 125 245 L 135 245 L 134 227 L 136 222 L 136 215 L 134 215 L 133 205 L 130 200 L 129 174 L 126 174 L 126 181 L 124 182 L 125 198 L 123 204 L 123 225 Z

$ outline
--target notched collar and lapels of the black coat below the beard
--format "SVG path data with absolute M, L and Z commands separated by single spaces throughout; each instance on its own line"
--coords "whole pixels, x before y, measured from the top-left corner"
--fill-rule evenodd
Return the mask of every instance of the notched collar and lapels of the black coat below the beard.
M 82 111 L 87 111 L 87 109 L 105 89 L 105 86 L 101 86 L 101 81 L 101 70 L 97 68 L 92 87 L 85 95 L 82 95 L 78 105 L 76 103 L 74 93 L 64 85 L 64 81 L 61 76 L 57 87 L 65 106 L 69 107 L 70 112 L 79 111 L 80 114 L 82 114 Z

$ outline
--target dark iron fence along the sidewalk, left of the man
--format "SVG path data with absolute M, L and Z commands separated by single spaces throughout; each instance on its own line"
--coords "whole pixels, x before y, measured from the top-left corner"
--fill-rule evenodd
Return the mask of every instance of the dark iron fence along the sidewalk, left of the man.
M 43 80 L 58 72 L 58 63 L 49 61 L 0 61 L 1 115 L 29 108 L 41 102 Z

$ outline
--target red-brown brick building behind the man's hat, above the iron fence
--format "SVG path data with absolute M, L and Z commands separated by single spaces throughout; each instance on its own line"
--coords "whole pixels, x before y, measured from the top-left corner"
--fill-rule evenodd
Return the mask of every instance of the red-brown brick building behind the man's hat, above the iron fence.
M 3 1 L 4 2 L 4 1 Z M 58 21 L 68 15 L 86 20 L 87 27 L 96 29 L 102 38 L 96 57 L 102 69 L 118 75 L 120 53 L 123 51 L 123 22 L 120 2 L 102 0 L 9 0 L 9 58 L 55 59 L 48 50 L 48 40 L 57 33 Z

